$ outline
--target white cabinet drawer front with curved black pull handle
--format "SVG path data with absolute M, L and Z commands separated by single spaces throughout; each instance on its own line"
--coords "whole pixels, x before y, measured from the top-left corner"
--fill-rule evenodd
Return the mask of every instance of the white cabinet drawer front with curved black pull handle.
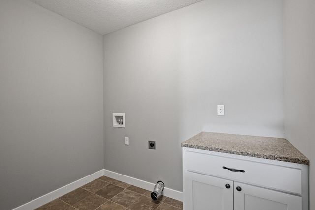
M 233 157 L 223 157 L 207 153 L 208 151 L 196 152 L 194 150 L 183 152 L 185 152 L 183 154 L 185 161 L 184 171 L 214 175 L 296 194 L 302 193 L 302 170 L 299 168 L 238 159 L 239 155 L 235 155 L 234 158 L 234 155 L 232 155 Z M 279 163 L 279 161 L 276 162 Z M 244 170 L 245 172 L 232 172 L 228 169 L 223 169 L 223 166 Z

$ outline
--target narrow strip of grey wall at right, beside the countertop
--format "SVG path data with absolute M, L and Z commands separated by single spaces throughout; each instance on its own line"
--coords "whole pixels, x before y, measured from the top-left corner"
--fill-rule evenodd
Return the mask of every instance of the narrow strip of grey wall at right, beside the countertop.
M 284 1 L 285 137 L 310 160 L 315 209 L 315 1 Z

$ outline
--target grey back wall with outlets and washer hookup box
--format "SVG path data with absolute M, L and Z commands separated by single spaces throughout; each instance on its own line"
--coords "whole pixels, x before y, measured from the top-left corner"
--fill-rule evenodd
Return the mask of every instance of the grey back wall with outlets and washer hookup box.
M 105 35 L 105 169 L 181 191 L 180 143 L 200 131 L 284 137 L 283 78 L 282 0 L 204 0 Z

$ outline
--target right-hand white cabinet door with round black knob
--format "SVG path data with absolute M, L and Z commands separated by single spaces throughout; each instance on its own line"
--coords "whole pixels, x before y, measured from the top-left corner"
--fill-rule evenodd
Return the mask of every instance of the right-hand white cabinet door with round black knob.
M 234 210 L 302 210 L 302 197 L 234 182 Z

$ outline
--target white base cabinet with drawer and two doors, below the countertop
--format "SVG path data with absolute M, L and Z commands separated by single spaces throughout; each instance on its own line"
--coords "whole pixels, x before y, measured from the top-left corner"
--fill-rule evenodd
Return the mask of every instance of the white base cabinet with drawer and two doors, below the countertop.
M 183 147 L 183 208 L 308 210 L 307 174 L 303 164 Z

